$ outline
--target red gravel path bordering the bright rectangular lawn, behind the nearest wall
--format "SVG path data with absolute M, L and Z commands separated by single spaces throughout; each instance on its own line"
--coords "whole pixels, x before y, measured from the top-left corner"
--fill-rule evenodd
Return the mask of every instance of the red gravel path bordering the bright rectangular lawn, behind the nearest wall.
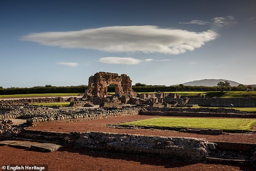
M 222 135 L 201 135 L 193 133 L 180 133 L 177 131 L 157 130 L 157 129 L 115 129 L 106 127 L 107 124 L 116 124 L 120 122 L 129 122 L 133 120 L 141 120 L 147 118 L 154 118 L 161 116 L 122 116 L 116 118 L 88 120 L 83 122 L 69 122 L 69 123 L 51 123 L 32 127 L 33 130 L 47 130 L 59 132 L 85 132 L 85 131 L 102 131 L 111 133 L 130 133 L 139 135 L 158 135 L 169 137 L 195 137 L 205 138 L 207 141 L 226 141 L 226 142 L 241 142 L 241 143 L 256 143 L 256 134 L 243 133 L 243 134 L 222 134 Z M 166 117 L 166 116 L 164 116 Z

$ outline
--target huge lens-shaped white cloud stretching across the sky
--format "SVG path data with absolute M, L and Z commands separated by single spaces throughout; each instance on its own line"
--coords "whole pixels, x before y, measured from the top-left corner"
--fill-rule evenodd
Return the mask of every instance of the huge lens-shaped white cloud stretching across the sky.
M 110 26 L 70 32 L 30 33 L 21 40 L 61 48 L 97 49 L 118 53 L 164 53 L 178 55 L 193 51 L 218 34 L 212 30 L 190 32 L 154 25 Z

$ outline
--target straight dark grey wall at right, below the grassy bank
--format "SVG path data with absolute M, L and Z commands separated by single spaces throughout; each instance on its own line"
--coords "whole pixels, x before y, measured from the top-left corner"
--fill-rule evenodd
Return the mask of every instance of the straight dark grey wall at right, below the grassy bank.
M 256 107 L 256 98 L 194 98 L 190 99 L 188 104 L 210 107 L 231 107 L 233 104 L 234 108 L 251 108 Z

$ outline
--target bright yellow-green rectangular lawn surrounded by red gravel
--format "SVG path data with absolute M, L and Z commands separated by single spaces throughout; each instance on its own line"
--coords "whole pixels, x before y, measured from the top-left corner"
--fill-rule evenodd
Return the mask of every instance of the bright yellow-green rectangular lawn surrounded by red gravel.
M 226 132 L 252 130 L 256 119 L 213 119 L 213 118 L 151 118 L 121 123 L 118 126 L 135 126 L 156 129 L 222 129 Z

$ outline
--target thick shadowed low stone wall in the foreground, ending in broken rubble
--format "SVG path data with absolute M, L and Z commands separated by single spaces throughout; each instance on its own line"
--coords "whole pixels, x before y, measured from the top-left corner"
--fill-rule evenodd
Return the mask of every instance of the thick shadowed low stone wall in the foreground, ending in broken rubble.
M 208 156 L 208 141 L 185 137 L 161 137 L 103 132 L 81 133 L 75 143 L 78 148 L 110 152 L 180 157 L 202 160 Z

